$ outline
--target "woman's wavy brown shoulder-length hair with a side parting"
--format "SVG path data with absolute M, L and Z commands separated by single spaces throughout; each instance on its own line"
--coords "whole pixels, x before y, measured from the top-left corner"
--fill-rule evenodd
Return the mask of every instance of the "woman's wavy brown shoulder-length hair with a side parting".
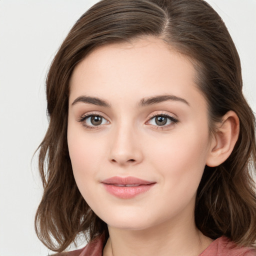
M 210 128 L 228 111 L 240 121 L 228 159 L 205 167 L 197 190 L 195 222 L 213 239 L 225 235 L 239 245 L 256 239 L 255 121 L 242 94 L 240 60 L 219 15 L 203 0 L 102 0 L 74 24 L 55 55 L 46 79 L 48 130 L 39 145 L 43 196 L 35 229 L 51 250 L 63 251 L 79 234 L 108 236 L 107 226 L 75 184 L 67 147 L 69 79 L 74 67 L 103 44 L 138 36 L 163 39 L 191 58 L 204 94 Z

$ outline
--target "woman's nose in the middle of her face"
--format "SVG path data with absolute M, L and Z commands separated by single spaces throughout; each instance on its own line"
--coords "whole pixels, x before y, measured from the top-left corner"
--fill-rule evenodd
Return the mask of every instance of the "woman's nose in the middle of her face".
M 109 160 L 119 165 L 135 165 L 142 161 L 142 143 L 138 132 L 129 125 L 113 131 L 110 138 Z

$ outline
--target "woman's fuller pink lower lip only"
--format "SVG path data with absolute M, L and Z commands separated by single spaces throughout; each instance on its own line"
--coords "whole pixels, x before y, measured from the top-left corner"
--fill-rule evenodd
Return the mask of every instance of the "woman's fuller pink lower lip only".
M 128 199 L 148 191 L 154 184 L 155 183 L 147 185 L 141 184 L 139 186 L 115 186 L 104 183 L 103 185 L 110 194 L 119 198 Z

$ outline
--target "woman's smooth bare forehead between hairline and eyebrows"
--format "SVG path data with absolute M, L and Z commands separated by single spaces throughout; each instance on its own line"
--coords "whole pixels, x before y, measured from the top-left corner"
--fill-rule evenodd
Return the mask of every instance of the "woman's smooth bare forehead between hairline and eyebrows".
M 191 91 L 198 93 L 195 77 L 189 58 L 161 39 L 108 44 L 77 64 L 70 79 L 70 101 L 80 94 L 114 100 L 166 93 L 189 98 Z

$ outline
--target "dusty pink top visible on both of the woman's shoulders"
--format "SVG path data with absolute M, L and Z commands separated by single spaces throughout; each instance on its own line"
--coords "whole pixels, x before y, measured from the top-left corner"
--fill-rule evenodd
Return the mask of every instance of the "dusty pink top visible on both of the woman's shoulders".
M 84 248 L 69 252 L 61 252 L 56 256 L 102 256 L 103 241 L 100 237 L 89 242 Z M 237 247 L 225 236 L 214 240 L 198 256 L 256 256 L 256 250 L 246 247 Z

